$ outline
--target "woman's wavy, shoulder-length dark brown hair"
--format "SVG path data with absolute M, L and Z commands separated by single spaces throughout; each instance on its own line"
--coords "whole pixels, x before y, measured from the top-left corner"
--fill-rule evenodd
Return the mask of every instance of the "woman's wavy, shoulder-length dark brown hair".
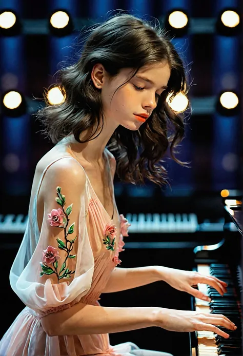
M 116 173 L 121 181 L 138 184 L 147 179 L 160 186 L 168 183 L 167 170 L 162 164 L 168 147 L 174 161 L 187 165 L 175 156 L 175 147 L 184 137 L 186 116 L 173 111 L 166 100 L 169 94 L 172 101 L 177 93 L 188 93 L 183 60 L 165 29 L 131 14 L 116 14 L 88 32 L 78 61 L 57 71 L 65 101 L 46 105 L 37 112 L 44 125 L 43 133 L 54 144 L 71 133 L 79 143 L 97 137 L 104 116 L 100 91 L 91 80 L 96 63 L 102 64 L 111 78 L 123 68 L 132 68 L 132 78 L 141 67 L 165 61 L 171 68 L 168 88 L 161 94 L 151 116 L 136 131 L 119 125 L 108 148 L 116 157 Z M 90 128 L 92 133 L 80 141 L 80 133 Z

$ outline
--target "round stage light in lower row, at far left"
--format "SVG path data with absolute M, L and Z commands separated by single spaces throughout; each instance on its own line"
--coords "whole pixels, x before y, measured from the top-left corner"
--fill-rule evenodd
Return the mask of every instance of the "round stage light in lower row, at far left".
M 2 95 L 1 101 L 3 113 L 7 116 L 20 116 L 26 112 L 26 100 L 24 95 L 16 90 L 9 90 Z

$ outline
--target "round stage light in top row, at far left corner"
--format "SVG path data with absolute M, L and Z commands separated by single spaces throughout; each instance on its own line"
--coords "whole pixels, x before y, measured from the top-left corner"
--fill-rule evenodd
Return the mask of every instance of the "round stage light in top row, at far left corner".
M 18 15 L 13 10 L 5 9 L 0 12 L 0 34 L 16 36 L 21 31 Z

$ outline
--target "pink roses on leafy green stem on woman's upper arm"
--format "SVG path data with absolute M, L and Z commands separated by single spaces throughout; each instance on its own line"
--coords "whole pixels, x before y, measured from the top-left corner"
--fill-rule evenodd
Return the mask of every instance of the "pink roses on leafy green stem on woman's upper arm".
M 70 220 L 68 216 L 72 212 L 72 204 L 67 207 L 66 211 L 64 210 L 65 195 L 61 193 L 61 190 L 62 190 L 61 187 L 56 187 L 56 192 L 57 192 L 56 202 L 58 205 L 62 207 L 62 209 L 60 208 L 52 209 L 51 213 L 48 214 L 48 221 L 50 222 L 51 226 L 64 229 L 65 243 L 58 238 L 56 239 L 56 241 L 58 243 L 58 248 L 67 252 L 67 257 L 64 263 L 62 264 L 62 266 L 60 267 L 59 273 L 57 272 L 57 268 L 58 268 L 58 260 L 60 259 L 60 256 L 57 248 L 48 246 L 46 250 L 43 250 L 43 258 L 42 258 L 42 262 L 40 262 L 40 265 L 42 266 L 42 272 L 40 272 L 40 276 L 43 276 L 44 274 L 55 273 L 57 275 L 57 281 L 58 281 L 57 283 L 59 283 L 59 280 L 63 278 L 70 278 L 71 274 L 75 272 L 75 270 L 71 271 L 69 270 L 68 267 L 66 268 L 66 261 L 67 259 L 75 259 L 76 257 L 76 254 L 72 255 L 70 254 L 70 252 L 72 251 L 73 243 L 77 238 L 76 236 L 74 239 L 68 240 L 68 235 L 74 232 L 75 223 L 70 225 L 67 231 L 67 227 Z M 69 243 L 69 248 L 68 248 L 68 243 Z M 50 265 L 52 265 L 53 268 Z

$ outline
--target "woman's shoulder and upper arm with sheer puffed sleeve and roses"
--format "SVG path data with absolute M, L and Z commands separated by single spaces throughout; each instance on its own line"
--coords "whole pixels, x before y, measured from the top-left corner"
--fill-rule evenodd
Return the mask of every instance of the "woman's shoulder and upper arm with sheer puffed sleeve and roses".
M 24 262 L 35 230 L 27 226 L 10 271 L 10 284 L 26 306 L 47 314 L 78 302 L 92 283 L 94 258 L 86 226 L 83 168 L 72 159 L 54 162 L 37 196 L 44 203 L 39 238 L 29 261 Z M 37 209 L 36 216 L 34 212 L 29 225 L 37 224 Z

